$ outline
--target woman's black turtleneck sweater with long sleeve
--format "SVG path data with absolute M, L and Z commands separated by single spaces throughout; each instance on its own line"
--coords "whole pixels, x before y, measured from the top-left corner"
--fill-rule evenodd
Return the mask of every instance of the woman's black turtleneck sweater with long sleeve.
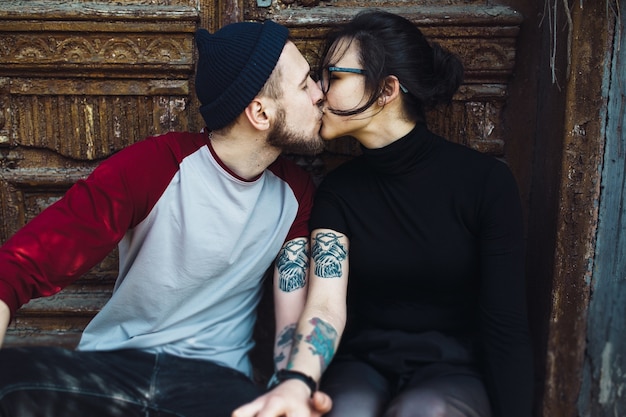
M 510 170 L 424 125 L 362 150 L 322 182 L 310 223 L 350 241 L 340 350 L 370 329 L 471 340 L 494 416 L 529 417 L 523 227 Z

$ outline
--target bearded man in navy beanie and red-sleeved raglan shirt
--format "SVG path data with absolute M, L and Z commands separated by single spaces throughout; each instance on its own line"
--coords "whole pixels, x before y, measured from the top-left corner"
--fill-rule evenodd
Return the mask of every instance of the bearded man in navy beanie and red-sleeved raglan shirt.
M 279 156 L 321 151 L 322 93 L 271 21 L 199 30 L 196 44 L 206 129 L 118 152 L 0 248 L 0 343 L 21 305 L 120 255 L 77 350 L 0 350 L 0 415 L 220 417 L 261 393 L 248 352 L 262 277 L 277 259 L 281 331 L 308 267 L 314 186 Z

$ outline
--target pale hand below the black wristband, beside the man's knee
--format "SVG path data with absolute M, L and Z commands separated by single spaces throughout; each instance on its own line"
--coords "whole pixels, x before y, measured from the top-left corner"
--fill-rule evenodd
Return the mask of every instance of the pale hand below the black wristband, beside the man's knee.
M 295 379 L 285 381 L 265 395 L 236 409 L 232 417 L 321 417 L 332 408 L 332 400 Z

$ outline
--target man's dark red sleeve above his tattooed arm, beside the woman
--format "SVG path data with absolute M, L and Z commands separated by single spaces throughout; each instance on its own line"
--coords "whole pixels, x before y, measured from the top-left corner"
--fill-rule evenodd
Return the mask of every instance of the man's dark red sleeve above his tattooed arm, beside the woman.
M 270 170 L 278 177 L 286 181 L 298 200 L 298 213 L 289 229 L 285 241 L 297 237 L 309 238 L 309 218 L 313 207 L 315 195 L 315 183 L 311 176 L 300 168 L 295 162 L 280 157 L 270 166 Z

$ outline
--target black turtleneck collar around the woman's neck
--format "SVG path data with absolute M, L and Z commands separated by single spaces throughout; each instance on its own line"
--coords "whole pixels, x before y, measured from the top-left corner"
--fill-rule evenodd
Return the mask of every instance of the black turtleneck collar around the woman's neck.
M 413 170 L 427 157 L 436 141 L 423 123 L 418 123 L 406 136 L 377 149 L 361 147 L 363 158 L 377 171 L 401 175 Z

